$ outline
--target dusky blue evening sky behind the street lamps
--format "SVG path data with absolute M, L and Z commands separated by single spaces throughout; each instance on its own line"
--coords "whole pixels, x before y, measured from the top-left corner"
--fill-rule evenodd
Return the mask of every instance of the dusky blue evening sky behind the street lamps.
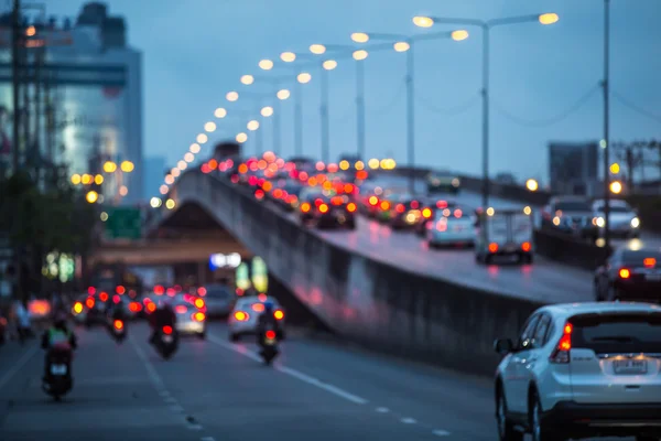
M 48 3 L 48 14 L 77 15 L 83 0 Z M 253 109 L 230 90 L 271 90 L 245 74 L 261 58 L 307 52 L 313 43 L 351 44 L 353 32 L 420 34 L 463 26 L 413 25 L 414 15 L 496 19 L 556 12 L 560 22 L 496 28 L 490 36 L 490 171 L 520 180 L 548 178 L 550 141 L 603 138 L 603 0 L 109 0 L 124 15 L 129 44 L 143 52 L 144 152 L 174 165 L 206 121 L 218 130 L 204 146 L 234 138 L 247 119 L 217 120 L 214 109 Z M 659 0 L 611 0 L 611 141 L 661 138 Z M 481 173 L 481 34 L 463 42 L 415 46 L 415 164 Z M 330 157 L 356 150 L 355 61 L 330 73 Z M 368 158 L 407 161 L 405 55 L 371 53 L 365 61 Z M 280 63 L 284 64 L 284 63 Z M 278 66 L 278 64 L 277 64 Z M 277 67 L 278 68 L 278 67 Z M 302 68 L 303 69 L 303 68 Z M 321 157 L 319 82 L 303 87 L 304 153 Z M 294 75 L 291 75 L 292 80 Z M 264 103 L 267 104 L 267 103 Z M 284 157 L 294 153 L 293 100 L 282 105 Z M 271 122 L 262 125 L 272 147 Z M 260 129 L 261 130 L 261 129 Z M 246 143 L 256 151 L 253 139 Z M 203 150 L 204 152 L 204 150 Z M 154 194 L 158 189 L 153 189 Z

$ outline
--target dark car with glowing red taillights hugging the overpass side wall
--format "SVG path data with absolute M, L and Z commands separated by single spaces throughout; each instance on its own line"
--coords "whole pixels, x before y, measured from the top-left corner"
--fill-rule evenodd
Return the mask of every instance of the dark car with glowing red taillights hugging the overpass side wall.
M 328 192 L 333 194 L 334 192 Z M 316 227 L 326 226 L 356 228 L 356 203 L 347 195 L 327 195 L 317 189 L 306 189 L 301 193 L 300 219 L 302 224 L 313 223 Z

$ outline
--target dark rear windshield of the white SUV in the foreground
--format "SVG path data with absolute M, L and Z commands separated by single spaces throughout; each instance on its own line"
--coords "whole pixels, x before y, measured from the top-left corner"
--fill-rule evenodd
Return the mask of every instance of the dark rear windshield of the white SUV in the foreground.
M 572 346 L 597 354 L 661 353 L 661 312 L 577 316 Z

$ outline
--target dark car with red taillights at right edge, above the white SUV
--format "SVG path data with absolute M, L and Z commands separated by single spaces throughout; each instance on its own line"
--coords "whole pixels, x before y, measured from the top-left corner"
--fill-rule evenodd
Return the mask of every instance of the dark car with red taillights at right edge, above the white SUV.
M 661 252 L 657 248 L 617 248 L 596 269 L 594 289 L 595 300 L 661 302 Z

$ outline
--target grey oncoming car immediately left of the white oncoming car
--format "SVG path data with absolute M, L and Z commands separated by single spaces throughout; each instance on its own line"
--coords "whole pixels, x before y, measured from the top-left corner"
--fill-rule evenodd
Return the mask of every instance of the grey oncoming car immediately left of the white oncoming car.
M 583 196 L 556 196 L 542 211 L 542 227 L 574 234 L 594 236 L 593 207 Z

